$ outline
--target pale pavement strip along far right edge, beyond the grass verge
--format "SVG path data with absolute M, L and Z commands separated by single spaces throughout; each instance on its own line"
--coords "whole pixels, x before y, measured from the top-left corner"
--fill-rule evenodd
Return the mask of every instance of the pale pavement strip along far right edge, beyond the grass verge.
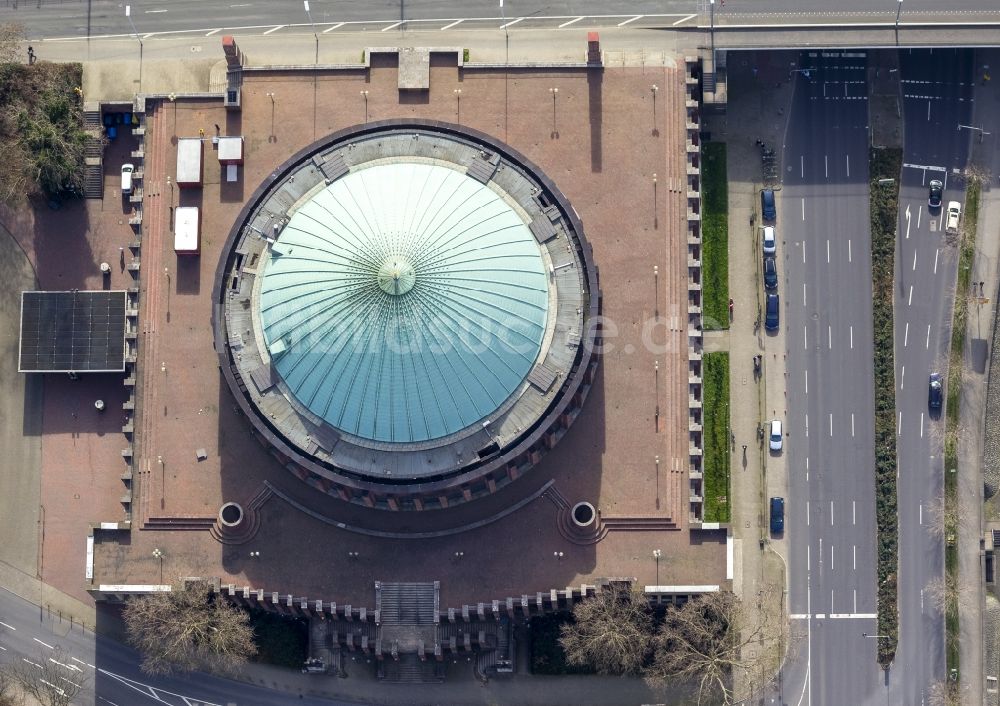
M 978 52 L 976 66 L 1000 60 L 994 50 Z M 1000 89 L 992 83 L 975 88 L 974 125 L 996 125 L 1000 118 L 997 101 Z M 994 130 L 995 132 L 995 130 Z M 982 144 L 971 136 L 970 162 L 982 165 L 994 177 L 1000 175 L 1000 149 L 995 136 Z M 984 292 L 993 295 L 985 304 L 970 307 L 966 322 L 965 352 L 962 360 L 962 397 L 959 417 L 961 430 L 958 471 L 958 576 L 959 576 L 959 660 L 961 664 L 962 703 L 983 704 L 983 682 L 995 675 L 997 665 L 984 665 L 983 621 L 983 440 L 985 434 L 986 392 L 990 367 L 990 342 L 993 340 L 996 295 L 998 291 L 998 254 L 1000 254 L 1000 189 L 991 183 L 983 186 L 979 202 L 976 252 L 972 262 L 972 281 L 985 282 Z M 958 292 L 957 296 L 966 293 Z M 998 381 L 993 381 L 994 386 Z M 994 422 L 995 423 L 995 422 Z M 947 472 L 947 469 L 945 469 Z M 987 631 L 989 633 L 991 631 Z M 984 671 L 985 669 L 985 671 Z

